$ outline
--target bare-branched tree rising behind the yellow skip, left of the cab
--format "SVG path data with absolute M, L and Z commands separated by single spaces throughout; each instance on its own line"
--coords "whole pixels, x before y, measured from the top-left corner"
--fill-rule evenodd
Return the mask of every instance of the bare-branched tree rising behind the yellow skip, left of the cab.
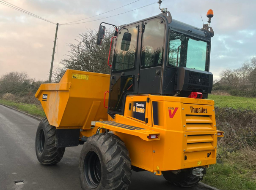
M 76 39 L 77 44 L 68 44 L 70 51 L 66 59 L 61 61 L 62 67 L 54 71 L 55 82 L 59 82 L 67 69 L 82 70 L 89 72 L 110 73 L 107 65 L 107 58 L 110 48 L 110 40 L 113 31 L 106 32 L 102 45 L 96 45 L 96 32 L 88 30 L 85 34 L 80 34 Z

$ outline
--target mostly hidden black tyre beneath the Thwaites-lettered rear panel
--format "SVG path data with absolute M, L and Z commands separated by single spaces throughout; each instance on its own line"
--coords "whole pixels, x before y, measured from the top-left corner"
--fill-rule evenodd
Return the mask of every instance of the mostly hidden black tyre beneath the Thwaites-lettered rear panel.
M 202 168 L 202 167 L 198 167 Z M 203 179 L 198 176 L 193 175 L 192 171 L 195 168 L 182 169 L 179 174 L 173 174 L 172 171 L 162 171 L 163 177 L 170 182 L 179 187 L 193 187 L 199 183 Z M 206 169 L 203 168 L 203 174 L 206 174 Z

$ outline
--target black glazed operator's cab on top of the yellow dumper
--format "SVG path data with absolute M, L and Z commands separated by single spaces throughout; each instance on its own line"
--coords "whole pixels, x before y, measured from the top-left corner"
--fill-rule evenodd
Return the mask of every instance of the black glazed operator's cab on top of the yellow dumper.
M 105 27 L 100 27 L 100 30 Z M 188 97 L 212 90 L 209 72 L 213 31 L 161 13 L 118 27 L 110 76 L 108 113 L 124 114 L 128 95 Z

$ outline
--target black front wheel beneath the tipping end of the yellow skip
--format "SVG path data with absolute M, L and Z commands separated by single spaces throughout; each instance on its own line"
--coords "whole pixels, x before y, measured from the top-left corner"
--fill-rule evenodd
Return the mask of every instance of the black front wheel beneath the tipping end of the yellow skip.
M 61 161 L 64 148 L 55 147 L 56 127 L 51 126 L 44 118 L 36 131 L 36 157 L 43 165 L 52 165 Z

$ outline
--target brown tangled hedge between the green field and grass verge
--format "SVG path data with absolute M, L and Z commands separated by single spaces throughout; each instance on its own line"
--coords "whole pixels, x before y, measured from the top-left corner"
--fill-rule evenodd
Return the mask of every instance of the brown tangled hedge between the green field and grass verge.
M 256 147 L 256 111 L 215 107 L 217 129 L 224 131 L 218 139 L 223 154 Z

